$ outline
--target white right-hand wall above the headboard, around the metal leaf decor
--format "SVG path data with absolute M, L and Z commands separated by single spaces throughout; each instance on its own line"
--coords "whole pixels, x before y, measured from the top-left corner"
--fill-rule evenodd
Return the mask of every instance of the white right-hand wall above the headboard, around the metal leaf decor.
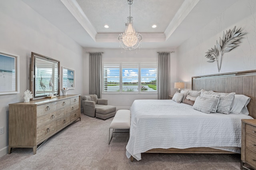
M 256 1 L 239 0 L 178 47 L 177 76 L 186 88 L 191 88 L 192 76 L 218 73 L 217 63 L 206 62 L 205 52 L 234 26 L 247 34 L 238 47 L 224 54 L 220 73 L 256 69 Z

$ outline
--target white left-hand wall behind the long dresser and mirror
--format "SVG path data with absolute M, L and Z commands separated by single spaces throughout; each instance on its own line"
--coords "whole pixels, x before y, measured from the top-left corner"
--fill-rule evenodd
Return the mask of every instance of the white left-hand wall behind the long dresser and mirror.
M 0 95 L 0 157 L 8 153 L 9 103 L 23 102 L 29 89 L 31 52 L 60 61 L 60 65 L 75 70 L 75 89 L 68 94 L 82 92 L 83 48 L 60 32 L 20 0 L 0 1 L 0 51 L 20 56 L 20 93 Z

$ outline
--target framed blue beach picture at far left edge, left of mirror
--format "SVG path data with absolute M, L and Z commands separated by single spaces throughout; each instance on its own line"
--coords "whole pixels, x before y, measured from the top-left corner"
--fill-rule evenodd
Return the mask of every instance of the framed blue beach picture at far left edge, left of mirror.
M 19 56 L 0 52 L 0 95 L 20 93 Z

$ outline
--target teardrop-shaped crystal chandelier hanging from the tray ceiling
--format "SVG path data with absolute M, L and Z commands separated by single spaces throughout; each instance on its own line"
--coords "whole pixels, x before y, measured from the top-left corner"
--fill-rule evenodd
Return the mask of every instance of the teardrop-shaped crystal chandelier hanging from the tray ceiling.
M 127 0 L 127 3 L 130 5 L 130 16 L 127 17 L 128 22 L 125 23 L 125 32 L 119 34 L 118 40 L 122 48 L 126 50 L 134 50 L 136 49 L 142 40 L 142 35 L 135 32 L 133 27 L 133 17 L 131 16 L 131 4 L 133 0 Z

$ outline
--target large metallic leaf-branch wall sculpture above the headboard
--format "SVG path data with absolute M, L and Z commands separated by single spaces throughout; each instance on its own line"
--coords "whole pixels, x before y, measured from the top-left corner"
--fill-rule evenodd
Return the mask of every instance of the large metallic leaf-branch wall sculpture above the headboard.
M 226 31 L 226 34 L 225 32 L 223 32 L 222 39 L 220 38 L 220 43 L 216 41 L 216 45 L 214 45 L 214 48 L 208 49 L 208 51 L 206 52 L 205 57 L 209 59 L 209 61 L 207 62 L 212 63 L 216 61 L 219 72 L 224 53 L 229 52 L 235 47 L 237 47 L 238 43 L 240 43 L 239 40 L 242 38 L 244 34 L 246 34 L 245 32 L 242 33 L 241 30 L 242 28 L 236 29 L 235 26 L 233 30 Z

